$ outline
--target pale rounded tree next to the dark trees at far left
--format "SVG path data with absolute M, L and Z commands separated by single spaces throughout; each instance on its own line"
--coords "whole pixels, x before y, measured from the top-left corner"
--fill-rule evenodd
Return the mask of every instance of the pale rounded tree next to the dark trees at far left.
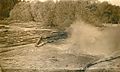
M 14 9 L 10 12 L 11 20 L 22 20 L 22 21 L 30 21 L 32 20 L 30 13 L 30 4 L 26 2 L 20 2 L 15 5 Z

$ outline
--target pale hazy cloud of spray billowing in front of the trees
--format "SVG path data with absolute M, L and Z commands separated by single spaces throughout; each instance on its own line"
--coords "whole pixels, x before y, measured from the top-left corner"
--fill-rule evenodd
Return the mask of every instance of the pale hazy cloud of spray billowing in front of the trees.
M 109 29 L 101 31 L 83 21 L 74 22 L 70 29 L 70 52 L 108 56 L 119 49 L 115 48 L 118 35 L 112 35 Z

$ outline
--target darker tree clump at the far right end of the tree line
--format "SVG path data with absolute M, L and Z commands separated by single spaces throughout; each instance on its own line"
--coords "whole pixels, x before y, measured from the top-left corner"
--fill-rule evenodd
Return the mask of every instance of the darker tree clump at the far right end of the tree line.
M 120 22 L 120 7 L 103 2 L 98 5 L 100 19 L 103 23 L 118 24 Z M 102 10 L 103 9 L 103 10 Z

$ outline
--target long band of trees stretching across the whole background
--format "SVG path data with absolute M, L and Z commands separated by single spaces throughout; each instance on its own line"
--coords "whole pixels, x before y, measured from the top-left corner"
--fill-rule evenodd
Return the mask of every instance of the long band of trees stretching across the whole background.
M 54 3 L 0 0 L 0 19 L 35 21 L 47 26 L 68 27 L 75 20 L 100 26 L 102 23 L 120 23 L 120 6 L 91 0 L 69 0 Z

